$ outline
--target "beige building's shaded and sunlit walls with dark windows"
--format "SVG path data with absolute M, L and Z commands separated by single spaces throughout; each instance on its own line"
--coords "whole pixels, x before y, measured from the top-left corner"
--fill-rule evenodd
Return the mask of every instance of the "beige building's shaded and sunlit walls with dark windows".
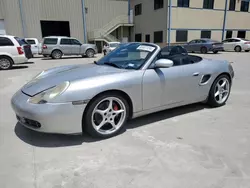
M 133 2 L 133 0 L 132 0 Z M 228 0 L 228 7 L 229 8 Z M 151 32 L 156 27 L 168 25 L 167 7 L 163 9 L 165 16 L 159 16 L 152 11 L 153 0 L 140 1 L 134 0 L 134 4 L 142 3 L 142 15 L 135 16 L 134 33 L 144 34 Z M 203 0 L 190 0 L 189 7 L 177 7 L 177 0 L 172 0 L 172 17 L 171 17 L 171 43 L 176 42 L 176 30 L 188 30 L 188 41 L 200 38 L 202 30 L 211 30 L 211 38 L 215 40 L 222 39 L 223 22 L 225 13 L 226 0 L 214 0 L 214 9 L 203 9 Z M 131 8 L 133 8 L 131 6 Z M 151 9 L 147 9 L 150 7 Z M 246 31 L 246 38 L 250 37 L 250 7 L 248 12 L 240 12 L 241 1 L 236 0 L 235 11 L 227 11 L 225 30 L 233 30 L 233 37 L 237 37 L 238 30 Z M 146 20 L 146 21 L 145 21 Z M 157 20 L 157 21 L 156 21 Z M 168 27 L 168 26 L 167 26 Z M 167 36 L 167 28 L 165 35 Z M 224 34 L 224 37 L 226 33 Z M 152 38 L 152 37 L 151 37 Z M 166 37 L 167 38 L 167 37 Z M 164 41 L 166 42 L 166 41 Z

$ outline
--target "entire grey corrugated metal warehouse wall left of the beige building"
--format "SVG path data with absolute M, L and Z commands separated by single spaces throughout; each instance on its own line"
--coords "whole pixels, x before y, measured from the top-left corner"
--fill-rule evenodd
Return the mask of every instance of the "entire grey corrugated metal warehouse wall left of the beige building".
M 84 41 L 82 0 L 21 0 L 25 37 L 42 38 L 41 20 L 69 21 L 70 34 Z M 7 34 L 24 37 L 19 0 L 0 0 L 0 19 Z M 119 15 L 128 15 L 127 0 L 85 0 L 87 31 L 100 29 Z

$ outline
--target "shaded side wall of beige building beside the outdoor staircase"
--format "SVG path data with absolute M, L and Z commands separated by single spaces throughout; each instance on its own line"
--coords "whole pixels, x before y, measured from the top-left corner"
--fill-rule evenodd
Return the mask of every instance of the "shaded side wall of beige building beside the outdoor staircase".
M 163 31 L 163 43 L 167 39 L 167 0 L 164 0 L 164 7 L 154 10 L 153 0 L 132 0 L 131 8 L 142 3 L 142 14 L 134 16 L 134 35 L 137 33 L 142 34 L 142 41 L 145 41 L 145 35 L 150 35 L 150 42 L 154 41 L 154 32 Z M 133 11 L 134 12 L 134 11 Z

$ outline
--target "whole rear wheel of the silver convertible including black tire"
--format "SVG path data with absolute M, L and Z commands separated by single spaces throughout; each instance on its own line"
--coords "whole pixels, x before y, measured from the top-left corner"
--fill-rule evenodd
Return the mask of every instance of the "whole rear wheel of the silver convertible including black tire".
M 223 88 L 219 88 L 218 85 L 222 86 L 224 82 L 225 86 Z M 230 91 L 231 91 L 230 78 L 225 74 L 220 75 L 215 79 L 209 91 L 209 96 L 207 101 L 208 105 L 212 107 L 220 107 L 225 105 L 230 95 Z

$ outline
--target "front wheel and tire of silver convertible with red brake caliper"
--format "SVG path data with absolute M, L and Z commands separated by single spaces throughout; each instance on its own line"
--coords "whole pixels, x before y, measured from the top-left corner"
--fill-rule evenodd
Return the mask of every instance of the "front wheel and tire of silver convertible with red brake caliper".
M 110 101 L 113 101 L 112 109 L 109 106 Z M 99 110 L 99 112 L 96 110 Z M 122 110 L 123 112 L 118 113 Z M 129 105 L 124 97 L 116 93 L 103 94 L 91 101 L 87 107 L 82 120 L 83 131 L 92 137 L 113 137 L 120 132 L 128 119 L 128 115 Z M 99 129 L 98 126 L 100 126 Z

